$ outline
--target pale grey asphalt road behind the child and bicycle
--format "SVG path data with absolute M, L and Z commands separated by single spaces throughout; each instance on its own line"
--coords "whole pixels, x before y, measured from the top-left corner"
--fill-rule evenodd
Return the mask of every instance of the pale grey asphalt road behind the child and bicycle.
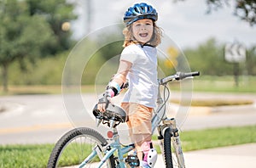
M 178 93 L 173 93 L 178 96 Z M 255 94 L 194 93 L 193 98 L 247 98 L 256 102 Z M 20 95 L 0 97 L 0 144 L 55 143 L 62 134 L 76 126 L 96 128 L 91 109 L 96 95 Z M 180 107 L 172 104 L 171 111 Z M 171 114 L 172 115 L 172 114 Z M 189 113 L 177 115 L 181 130 L 218 126 L 245 126 L 256 124 L 256 105 L 218 108 L 190 108 Z M 106 132 L 105 126 L 97 128 Z M 127 142 L 127 128 L 119 132 Z

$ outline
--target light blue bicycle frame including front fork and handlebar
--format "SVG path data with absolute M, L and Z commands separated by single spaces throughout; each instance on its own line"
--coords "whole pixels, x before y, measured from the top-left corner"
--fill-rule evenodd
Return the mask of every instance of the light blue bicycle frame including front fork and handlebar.
M 176 120 L 174 118 L 168 119 L 166 117 L 166 100 L 163 100 L 161 98 L 160 94 L 160 86 L 166 87 L 166 84 L 168 81 L 175 81 L 175 80 L 182 80 L 187 77 L 191 76 L 199 76 L 199 72 L 191 72 L 191 73 L 177 73 L 174 76 L 167 76 L 166 78 L 160 79 L 159 80 L 159 88 L 158 88 L 158 98 L 157 98 L 157 109 L 155 110 L 156 112 L 154 113 L 154 116 L 152 117 L 151 123 L 152 123 L 152 133 L 154 132 L 155 128 L 157 127 L 158 130 L 158 139 L 160 140 L 160 147 L 161 147 L 161 153 L 164 154 L 163 149 L 162 149 L 162 144 L 163 144 L 163 133 L 166 132 L 167 128 L 170 128 L 170 132 L 172 135 L 172 146 L 175 150 L 175 154 L 177 156 L 177 162 L 179 165 L 179 168 L 184 168 L 184 160 L 183 160 L 183 151 L 181 147 L 181 143 L 179 140 L 179 135 L 178 135 L 178 130 L 176 126 Z M 168 98 L 167 98 L 168 99 Z M 113 122 L 115 122 L 113 120 Z M 114 123 L 113 123 L 114 126 Z M 119 134 L 117 131 L 116 127 L 112 127 L 113 131 L 113 143 L 109 143 L 108 146 L 105 148 L 106 154 L 102 157 L 102 154 L 100 153 L 100 148 L 95 147 L 93 148 L 93 152 L 79 165 L 79 167 L 83 167 L 88 163 L 89 160 L 91 160 L 93 157 L 98 154 L 100 157 L 101 161 L 98 165 L 98 167 L 101 167 L 107 160 L 108 158 L 114 154 L 115 152 L 118 153 L 118 166 L 120 168 L 125 168 L 125 160 L 124 160 L 124 154 L 127 154 L 130 152 L 132 149 L 135 148 L 135 145 L 129 144 L 125 147 L 122 147 L 122 145 L 119 143 Z

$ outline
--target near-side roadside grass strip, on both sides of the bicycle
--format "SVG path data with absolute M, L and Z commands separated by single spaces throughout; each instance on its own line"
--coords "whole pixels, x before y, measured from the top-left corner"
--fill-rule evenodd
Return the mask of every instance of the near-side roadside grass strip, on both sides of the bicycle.
M 180 132 L 180 137 L 183 151 L 256 143 L 256 125 Z M 160 152 L 159 146 L 154 146 Z M 0 167 L 46 167 L 53 147 L 54 144 L 0 145 Z

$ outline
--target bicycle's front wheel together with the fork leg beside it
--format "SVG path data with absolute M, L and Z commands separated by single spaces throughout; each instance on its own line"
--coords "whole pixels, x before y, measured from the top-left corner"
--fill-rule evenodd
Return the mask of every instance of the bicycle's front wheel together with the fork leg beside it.
M 170 128 L 164 133 L 164 159 L 168 168 L 185 168 L 179 137 L 172 137 Z

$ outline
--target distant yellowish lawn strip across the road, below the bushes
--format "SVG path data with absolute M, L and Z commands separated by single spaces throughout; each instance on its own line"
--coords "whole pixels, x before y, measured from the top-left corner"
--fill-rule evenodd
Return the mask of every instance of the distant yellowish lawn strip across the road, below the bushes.
M 240 76 L 239 86 L 236 87 L 233 76 L 197 76 L 193 80 L 195 92 L 234 92 L 256 93 L 256 76 Z M 97 86 L 97 90 L 103 90 L 106 86 Z M 179 91 L 179 82 L 170 85 L 171 90 Z M 95 86 L 82 86 L 81 92 L 95 92 Z M 9 86 L 9 92 L 0 92 L 0 95 L 20 94 L 60 94 L 61 86 Z

